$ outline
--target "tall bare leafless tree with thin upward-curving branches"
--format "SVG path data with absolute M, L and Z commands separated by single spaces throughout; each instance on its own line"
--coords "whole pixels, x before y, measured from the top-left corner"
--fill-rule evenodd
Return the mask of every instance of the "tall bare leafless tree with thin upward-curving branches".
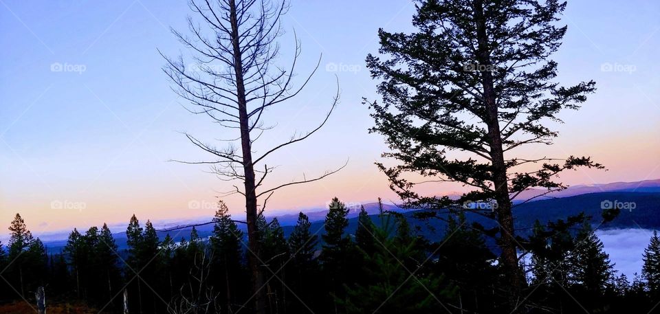
M 266 164 L 266 158 L 307 139 L 326 124 L 339 100 L 339 83 L 327 115 L 316 128 L 307 133 L 296 133 L 285 142 L 256 150 L 255 142 L 272 128 L 263 122 L 266 109 L 284 104 L 298 95 L 318 69 L 320 59 L 302 83 L 294 86 L 294 71 L 300 56 L 300 42 L 295 37 L 295 54 L 289 67 L 273 65 L 280 49 L 276 39 L 282 34 L 281 17 L 288 10 L 286 0 L 190 0 L 189 6 L 201 23 L 189 16 L 190 34 L 176 30 L 173 33 L 191 52 L 192 66 L 186 65 L 184 56 L 168 58 L 161 53 L 166 60 L 163 70 L 174 83 L 173 90 L 190 102 L 190 106 L 186 106 L 188 111 L 210 117 L 228 133 L 234 132 L 234 136 L 223 140 L 228 143 L 218 148 L 184 133 L 192 144 L 213 155 L 214 159 L 183 162 L 208 164 L 220 179 L 243 182 L 243 189 L 234 183 L 233 189 L 225 196 L 241 194 L 245 197 L 250 249 L 248 262 L 253 292 L 256 294 L 255 310 L 263 314 L 265 294 L 262 291 L 263 275 L 259 267 L 261 249 L 256 226 L 258 202 L 261 200 L 263 211 L 276 190 L 323 179 L 346 166 L 344 164 L 311 179 L 303 177 L 298 181 L 265 186 L 267 175 L 274 170 L 273 166 Z

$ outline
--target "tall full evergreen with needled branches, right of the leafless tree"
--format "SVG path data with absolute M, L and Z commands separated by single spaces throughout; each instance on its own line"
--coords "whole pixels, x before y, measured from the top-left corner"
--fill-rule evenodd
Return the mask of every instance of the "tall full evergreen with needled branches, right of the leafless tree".
M 456 203 L 424 196 L 419 181 L 457 181 L 475 189 L 470 199 L 498 204 L 485 215 L 497 221 L 499 265 L 507 280 L 505 301 L 518 305 L 525 285 L 518 265 L 511 197 L 527 188 L 559 188 L 555 175 L 579 166 L 601 167 L 588 157 L 519 159 L 514 148 L 551 144 L 558 133 L 547 121 L 564 109 L 578 109 L 595 83 L 561 87 L 552 80 L 558 64 L 549 57 L 566 32 L 558 25 L 560 0 L 421 0 L 412 34 L 378 31 L 380 56 L 366 66 L 380 81 L 382 103 L 369 102 L 375 127 L 386 138 L 379 167 L 406 205 L 441 210 Z M 448 155 L 460 150 L 463 159 Z M 537 168 L 529 166 L 537 164 Z M 522 170 L 520 166 L 528 168 Z

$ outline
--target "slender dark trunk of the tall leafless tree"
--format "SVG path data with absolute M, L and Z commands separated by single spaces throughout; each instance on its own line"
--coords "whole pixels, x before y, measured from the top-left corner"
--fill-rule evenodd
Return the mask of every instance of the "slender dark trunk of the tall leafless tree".
M 243 157 L 243 175 L 245 176 L 245 221 L 248 223 L 248 262 L 252 277 L 252 291 L 255 294 L 256 314 L 265 314 L 265 295 L 263 293 L 263 274 L 259 269 L 259 230 L 256 227 L 256 191 L 254 168 L 252 165 L 252 143 L 250 142 L 250 126 L 248 107 L 245 98 L 245 83 L 243 82 L 243 60 L 239 43 L 239 25 L 236 18 L 236 2 L 229 1 L 230 21 L 232 25 L 232 48 L 234 52 L 234 73 L 236 75 L 236 96 L 239 105 L 239 124 L 241 128 L 241 149 Z

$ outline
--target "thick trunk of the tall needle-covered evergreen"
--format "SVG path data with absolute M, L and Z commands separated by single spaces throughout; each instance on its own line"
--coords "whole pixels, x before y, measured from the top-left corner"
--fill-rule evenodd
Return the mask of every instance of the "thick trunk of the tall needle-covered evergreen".
M 476 21 L 476 35 L 478 41 L 477 56 L 480 65 L 490 65 L 488 47 L 488 34 L 486 33 L 485 16 L 483 13 L 483 0 L 474 1 L 474 18 Z M 516 240 L 514 238 L 514 217 L 511 212 L 511 199 L 509 199 L 509 181 L 507 179 L 507 166 L 505 165 L 502 135 L 498 119 L 498 106 L 494 90 L 493 77 L 490 71 L 481 73 L 483 85 L 483 98 L 486 106 L 487 126 L 489 135 L 490 157 L 492 158 L 492 181 L 497 201 L 497 221 L 500 225 L 500 238 L 498 245 L 502 250 L 502 262 L 505 280 L 507 280 L 507 298 L 511 309 L 516 308 L 518 294 L 521 288 L 520 269 L 518 267 L 518 254 L 516 253 Z

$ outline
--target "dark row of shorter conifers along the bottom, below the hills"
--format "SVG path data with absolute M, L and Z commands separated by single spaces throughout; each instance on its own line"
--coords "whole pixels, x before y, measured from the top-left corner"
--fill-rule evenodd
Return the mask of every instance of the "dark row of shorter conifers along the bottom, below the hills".
M 77 300 L 101 313 L 254 313 L 248 256 L 265 273 L 269 313 L 507 313 L 504 271 L 483 233 L 465 215 L 448 216 L 437 241 L 421 236 L 402 214 L 362 208 L 349 234 L 349 210 L 333 199 L 324 227 L 300 212 L 288 237 L 277 218 L 259 215 L 263 251 L 219 202 L 212 234 L 195 227 L 162 238 L 133 215 L 126 249 L 107 225 L 74 229 L 65 247 L 47 254 L 17 214 L 0 249 L 3 302 L 34 302 L 45 287 L 50 302 Z M 536 223 L 521 261 L 530 313 L 649 311 L 660 300 L 660 237 L 653 233 L 641 276 L 617 276 L 591 225 Z

